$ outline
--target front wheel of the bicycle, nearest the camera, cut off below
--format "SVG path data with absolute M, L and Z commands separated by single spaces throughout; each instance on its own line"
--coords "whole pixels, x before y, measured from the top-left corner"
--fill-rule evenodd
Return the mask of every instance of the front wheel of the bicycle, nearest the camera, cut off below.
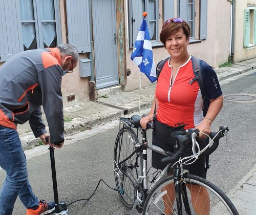
M 205 180 L 204 178 L 187 174 L 185 176 L 185 179 L 183 179 L 183 182 L 186 183 L 186 186 L 191 186 L 191 183 L 193 183 L 193 184 L 203 186 L 207 189 L 210 196 L 210 211 L 208 214 L 224 214 L 225 213 L 225 214 L 239 215 L 236 207 L 234 207 L 234 205 L 228 199 L 225 193 L 222 190 L 220 190 L 217 186 Z M 144 215 L 161 214 L 161 213 L 164 214 L 164 205 L 163 205 L 164 203 L 161 197 L 163 196 L 163 192 L 165 192 L 165 190 L 162 191 L 161 189 L 170 183 L 174 183 L 173 176 L 168 176 L 164 178 L 163 180 L 158 182 L 158 184 L 155 187 L 153 187 L 153 189 L 148 194 L 144 204 L 144 208 L 143 208 Z M 197 214 L 194 211 L 194 207 L 192 206 L 192 203 L 191 203 L 191 196 L 190 196 L 189 189 L 186 188 L 186 190 L 188 195 L 188 204 L 191 210 L 190 212 L 193 215 Z M 195 204 L 197 204 L 197 202 Z M 184 205 L 185 204 L 182 199 L 182 214 L 189 214 L 185 211 Z M 173 214 L 179 214 L 177 210 L 176 201 L 174 202 L 174 205 L 173 205 Z

